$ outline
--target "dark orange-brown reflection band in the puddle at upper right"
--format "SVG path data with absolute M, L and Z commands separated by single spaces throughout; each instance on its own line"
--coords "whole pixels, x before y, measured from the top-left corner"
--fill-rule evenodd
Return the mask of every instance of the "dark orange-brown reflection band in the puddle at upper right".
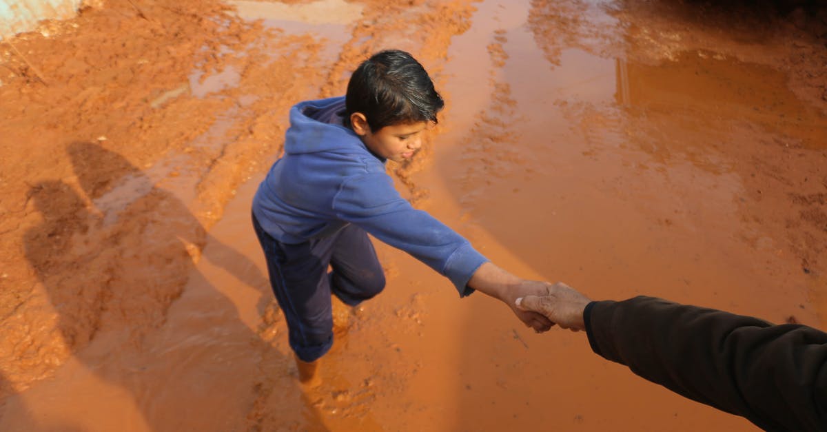
M 827 145 L 825 116 L 802 103 L 787 87 L 786 75 L 768 66 L 699 50 L 659 65 L 617 59 L 615 70 L 615 98 L 626 108 L 751 122 L 806 148 Z

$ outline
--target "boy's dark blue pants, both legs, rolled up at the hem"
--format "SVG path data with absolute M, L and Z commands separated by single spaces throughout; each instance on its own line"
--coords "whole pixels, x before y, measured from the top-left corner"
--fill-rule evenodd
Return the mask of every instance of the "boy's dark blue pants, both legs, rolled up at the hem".
M 270 237 L 255 216 L 253 227 L 267 260 L 270 286 L 287 320 L 290 348 L 304 362 L 313 362 L 333 344 L 331 295 L 355 306 L 385 288 L 373 244 L 365 230 L 353 224 L 298 244 Z

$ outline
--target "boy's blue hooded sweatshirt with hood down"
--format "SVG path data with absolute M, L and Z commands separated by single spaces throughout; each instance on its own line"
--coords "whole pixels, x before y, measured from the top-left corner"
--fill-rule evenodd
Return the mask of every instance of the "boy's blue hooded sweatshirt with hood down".
M 290 109 L 284 156 L 253 199 L 261 227 L 284 243 L 323 238 L 348 223 L 408 252 L 457 286 L 461 296 L 488 261 L 471 243 L 394 188 L 385 160 L 341 124 L 345 98 L 307 101 Z

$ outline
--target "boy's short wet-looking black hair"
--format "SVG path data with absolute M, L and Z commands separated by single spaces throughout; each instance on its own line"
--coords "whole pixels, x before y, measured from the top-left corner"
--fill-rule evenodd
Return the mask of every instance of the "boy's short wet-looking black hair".
M 436 123 L 445 103 L 414 56 L 402 50 L 383 50 L 353 72 L 345 106 L 348 126 L 352 113 L 362 113 L 370 130 L 376 132 L 399 123 Z

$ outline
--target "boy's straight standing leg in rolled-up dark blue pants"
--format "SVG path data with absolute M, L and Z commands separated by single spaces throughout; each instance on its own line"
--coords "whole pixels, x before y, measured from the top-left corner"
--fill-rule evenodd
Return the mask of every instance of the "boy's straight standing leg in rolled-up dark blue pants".
M 253 226 L 265 252 L 270 286 L 287 321 L 290 348 L 299 360 L 312 363 L 333 343 L 327 265 L 336 236 L 284 244 L 265 233 L 255 217 Z

